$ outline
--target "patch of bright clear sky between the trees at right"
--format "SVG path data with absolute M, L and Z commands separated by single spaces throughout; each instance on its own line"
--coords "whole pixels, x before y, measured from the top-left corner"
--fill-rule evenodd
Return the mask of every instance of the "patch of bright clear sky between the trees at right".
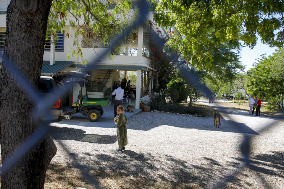
M 260 55 L 264 53 L 266 53 L 266 56 L 272 55 L 272 53 L 275 52 L 275 49 L 278 48 L 270 48 L 268 45 L 261 43 L 260 39 L 257 40 L 257 45 L 254 47 L 254 49 L 243 47 L 241 51 L 242 58 L 240 61 L 246 66 L 245 72 L 254 67 L 252 64 L 257 62 L 255 59 L 260 58 Z

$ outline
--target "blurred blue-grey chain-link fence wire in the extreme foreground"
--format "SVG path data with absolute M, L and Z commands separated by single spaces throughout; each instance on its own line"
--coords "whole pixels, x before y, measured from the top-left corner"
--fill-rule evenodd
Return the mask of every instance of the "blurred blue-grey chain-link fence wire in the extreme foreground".
M 125 38 L 125 36 L 128 35 L 128 33 L 131 30 L 133 30 L 133 28 L 137 27 L 137 25 L 143 25 L 144 24 L 145 17 L 149 13 L 149 5 L 145 0 L 139 1 L 138 12 L 139 12 L 138 19 L 134 20 L 133 23 L 129 27 L 125 28 L 123 30 L 123 32 L 121 33 L 121 35 L 118 38 L 116 38 L 115 40 L 113 40 L 112 45 L 115 46 L 115 45 L 119 44 L 119 41 L 122 40 L 123 38 Z M 156 34 L 153 34 L 153 35 L 156 35 Z M 160 40 L 157 36 L 153 37 L 153 39 L 159 45 L 160 48 L 163 48 L 164 42 L 162 40 Z M 169 51 L 169 49 L 167 49 L 167 51 Z M 106 56 L 109 56 L 109 53 L 110 53 L 110 50 L 108 48 L 106 48 L 102 53 L 99 54 L 99 56 L 104 58 Z M 14 68 L 14 66 L 13 66 L 14 63 L 11 62 L 9 60 L 9 58 L 6 57 L 5 55 L 3 55 L 2 58 L 3 58 L 3 62 L 5 62 L 4 66 L 6 66 L 7 70 L 10 72 L 10 74 L 13 75 L 14 80 L 16 80 L 22 86 L 23 91 L 28 96 L 33 97 L 35 104 L 38 105 L 39 107 L 41 107 L 40 112 L 38 112 L 37 109 L 34 110 L 35 111 L 34 115 L 36 115 L 37 119 L 39 120 L 38 121 L 38 129 L 31 136 L 28 136 L 26 141 L 22 142 L 22 145 L 20 145 L 12 153 L 12 155 L 8 158 L 7 161 L 2 162 L 1 174 L 4 174 L 5 172 L 7 172 L 7 170 L 11 169 L 14 166 L 14 164 L 16 164 L 19 159 L 21 159 L 21 157 L 23 157 L 25 154 L 27 154 L 29 152 L 29 150 L 33 146 L 35 146 L 41 139 L 43 139 L 47 134 L 52 134 L 51 131 L 50 131 L 49 123 L 40 121 L 40 116 L 41 116 L 41 114 L 44 113 L 45 115 L 48 114 L 49 117 L 51 118 L 51 113 L 49 113 L 48 107 L 50 105 L 52 105 L 52 102 L 54 101 L 54 96 L 49 95 L 49 96 L 44 97 L 44 99 L 39 97 L 38 94 L 37 94 L 37 91 L 34 89 L 34 87 L 32 87 L 29 84 L 28 80 L 21 74 L 21 72 L 19 70 Z M 179 59 L 176 59 L 175 61 L 176 61 L 175 66 L 180 66 L 180 70 L 183 74 L 183 79 L 185 81 L 197 81 L 198 80 L 187 69 L 185 69 L 184 67 L 181 66 L 181 65 L 183 65 L 183 61 L 180 61 Z M 98 62 L 88 64 L 88 68 L 89 69 L 96 68 L 97 63 Z M 199 89 L 201 89 L 206 94 L 207 97 L 209 97 L 209 103 L 213 102 L 212 92 L 206 86 L 204 86 L 203 84 L 201 84 L 199 82 L 196 82 L 194 84 Z M 69 89 L 66 88 L 66 90 L 61 91 L 61 93 L 63 94 L 65 92 L 67 92 L 67 90 L 69 90 Z M 224 116 L 230 117 L 230 115 L 226 114 L 225 112 L 221 111 L 221 114 L 223 115 L 223 117 Z M 272 127 L 273 125 L 274 124 L 268 125 L 266 128 L 264 128 L 264 130 Z M 232 123 L 231 126 L 238 129 L 237 123 Z M 235 176 L 238 175 L 238 173 L 246 167 L 251 169 L 251 170 L 257 170 L 257 167 L 251 165 L 250 160 L 249 160 L 249 154 L 250 154 L 251 148 L 252 148 L 250 146 L 251 139 L 252 139 L 252 136 L 244 134 L 243 142 L 240 144 L 240 150 L 241 150 L 241 153 L 244 157 L 243 163 L 238 167 L 238 169 L 235 172 L 232 172 L 230 175 L 227 175 L 227 177 L 224 178 L 223 180 L 216 181 L 217 183 L 215 183 L 212 188 L 224 187 L 226 185 L 226 183 L 232 182 L 235 179 Z M 94 187 L 100 188 L 99 183 L 96 180 L 96 178 L 89 175 L 88 171 L 85 170 L 85 168 L 82 165 L 80 165 L 80 163 L 75 161 L 75 154 L 72 153 L 70 151 L 70 149 L 68 149 L 68 147 L 66 147 L 62 142 L 59 141 L 58 143 L 59 143 L 59 145 L 62 146 L 62 148 L 65 151 L 67 151 L 67 154 L 72 158 L 72 160 L 74 162 L 74 164 L 73 164 L 74 167 L 81 170 L 81 173 L 84 176 L 84 178 L 87 179 Z M 261 175 L 259 175 L 259 178 L 267 188 L 272 188 L 268 184 L 268 182 L 263 177 L 261 177 Z

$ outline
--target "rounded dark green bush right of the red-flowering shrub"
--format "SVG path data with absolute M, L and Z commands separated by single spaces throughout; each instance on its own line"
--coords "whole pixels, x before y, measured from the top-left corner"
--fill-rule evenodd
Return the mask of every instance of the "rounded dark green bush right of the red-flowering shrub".
M 167 97 L 173 103 L 180 103 L 187 99 L 188 91 L 182 82 L 175 82 L 170 86 Z

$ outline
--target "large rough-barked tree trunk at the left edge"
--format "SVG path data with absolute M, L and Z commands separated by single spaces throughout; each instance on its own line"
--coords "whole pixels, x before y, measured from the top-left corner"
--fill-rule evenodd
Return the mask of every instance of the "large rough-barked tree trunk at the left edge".
M 43 61 L 46 26 L 52 0 L 11 0 L 7 9 L 4 54 L 28 82 L 37 88 Z M 24 86 L 14 80 L 3 61 L 0 74 L 0 137 L 2 164 L 38 128 L 33 116 L 37 106 Z M 37 133 L 35 133 L 36 135 Z M 29 142 L 29 141 L 27 141 Z M 14 153 L 15 151 L 15 153 Z M 1 174 L 1 189 L 43 189 L 47 167 L 56 154 L 49 136 L 41 139 L 14 166 Z

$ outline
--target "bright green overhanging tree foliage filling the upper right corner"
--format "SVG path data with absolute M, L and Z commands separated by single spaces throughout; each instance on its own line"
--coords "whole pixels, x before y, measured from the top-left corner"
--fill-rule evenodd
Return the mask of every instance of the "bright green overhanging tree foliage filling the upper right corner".
M 282 12 L 282 0 L 161 0 L 154 20 L 174 31 L 167 48 L 180 52 L 191 66 L 230 82 L 243 69 L 238 52 L 232 51 L 241 49 L 240 41 L 253 48 L 259 35 L 262 43 L 283 47 Z

